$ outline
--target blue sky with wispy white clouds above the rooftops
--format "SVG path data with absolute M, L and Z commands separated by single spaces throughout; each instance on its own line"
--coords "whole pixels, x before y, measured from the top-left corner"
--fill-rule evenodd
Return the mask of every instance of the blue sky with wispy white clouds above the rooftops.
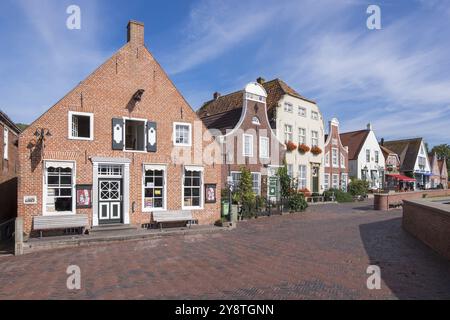
M 66 9 L 81 8 L 81 30 Z M 366 9 L 381 8 L 368 30 Z M 2 0 L 0 108 L 30 123 L 126 41 L 129 19 L 191 106 L 263 76 L 342 131 L 450 143 L 450 1 Z

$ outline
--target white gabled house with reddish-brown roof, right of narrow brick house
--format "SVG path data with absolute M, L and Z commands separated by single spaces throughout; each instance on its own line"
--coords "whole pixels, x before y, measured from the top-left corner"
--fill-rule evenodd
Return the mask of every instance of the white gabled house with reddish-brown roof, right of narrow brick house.
M 369 123 L 366 130 L 342 133 L 341 141 L 348 146 L 350 176 L 368 181 L 372 190 L 383 188 L 385 159 L 372 125 Z

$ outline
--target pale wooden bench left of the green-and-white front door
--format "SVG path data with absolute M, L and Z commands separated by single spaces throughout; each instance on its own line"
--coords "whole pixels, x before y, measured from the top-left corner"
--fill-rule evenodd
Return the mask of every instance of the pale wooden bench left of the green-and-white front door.
M 41 233 L 45 230 L 82 228 L 89 226 L 87 214 L 71 214 L 61 216 L 36 216 L 33 218 L 33 229 Z

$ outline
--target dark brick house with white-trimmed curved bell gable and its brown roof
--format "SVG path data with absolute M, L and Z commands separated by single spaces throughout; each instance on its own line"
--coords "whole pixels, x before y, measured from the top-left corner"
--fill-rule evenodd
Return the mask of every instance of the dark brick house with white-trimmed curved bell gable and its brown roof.
M 244 90 L 221 96 L 215 93 L 197 114 L 221 142 L 222 188 L 227 177 L 233 185 L 240 181 L 242 167 L 252 173 L 253 191 L 257 195 L 272 197 L 269 177 L 275 176 L 285 158 L 284 144 L 273 132 L 267 116 L 268 95 L 257 82 Z

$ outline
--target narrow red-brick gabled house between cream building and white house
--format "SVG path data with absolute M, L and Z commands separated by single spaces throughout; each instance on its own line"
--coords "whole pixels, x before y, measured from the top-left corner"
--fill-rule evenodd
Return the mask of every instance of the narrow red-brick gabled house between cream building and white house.
M 347 191 L 349 184 L 348 147 L 342 145 L 339 121 L 336 118 L 329 123 L 328 135 L 325 136 L 324 153 L 324 189 Z

